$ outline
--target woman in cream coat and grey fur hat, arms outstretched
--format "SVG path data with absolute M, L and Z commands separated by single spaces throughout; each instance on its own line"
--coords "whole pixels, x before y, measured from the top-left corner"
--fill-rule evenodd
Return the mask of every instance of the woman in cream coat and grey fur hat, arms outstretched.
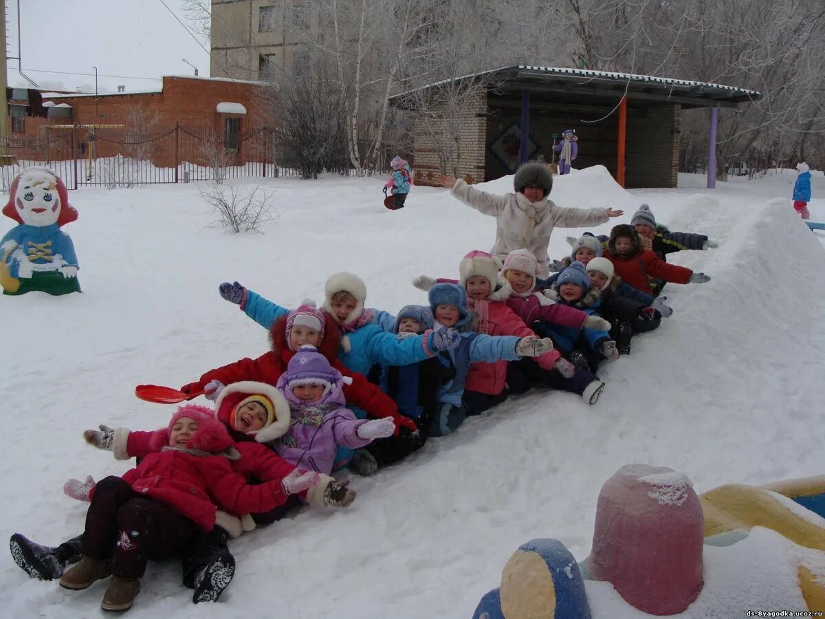
M 454 177 L 439 180 L 453 197 L 496 218 L 496 242 L 490 253 L 503 261 L 513 250 L 526 248 L 538 261 L 540 277 L 549 275 L 547 246 L 556 226 L 581 228 L 624 215 L 621 210 L 556 206 L 548 198 L 553 175 L 545 163 L 530 162 L 518 168 L 513 177 L 516 192 L 504 196 L 479 191 Z

